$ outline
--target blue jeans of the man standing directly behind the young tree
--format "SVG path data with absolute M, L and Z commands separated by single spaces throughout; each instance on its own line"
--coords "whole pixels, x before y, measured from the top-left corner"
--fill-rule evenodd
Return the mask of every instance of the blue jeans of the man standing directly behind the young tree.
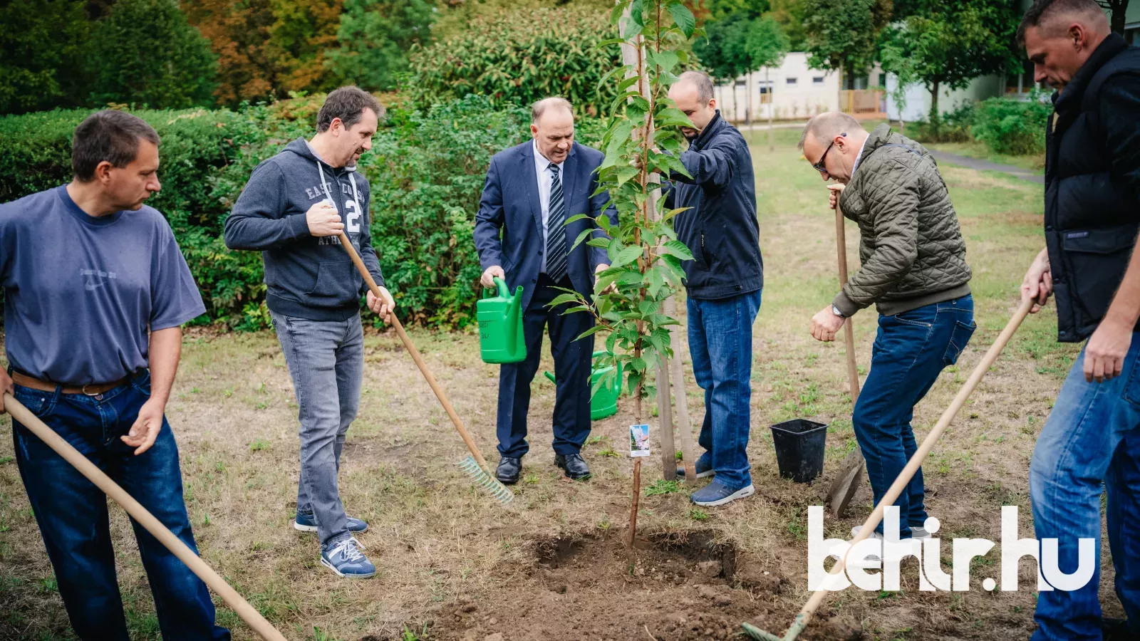
M 705 390 L 705 421 L 698 443 L 716 480 L 736 490 L 752 485 L 748 464 L 751 428 L 752 323 L 760 291 L 732 298 L 689 298 L 689 354 L 693 378 Z

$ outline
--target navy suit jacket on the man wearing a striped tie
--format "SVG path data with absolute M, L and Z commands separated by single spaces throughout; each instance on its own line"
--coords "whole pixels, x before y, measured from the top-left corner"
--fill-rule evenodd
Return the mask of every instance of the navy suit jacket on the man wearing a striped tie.
M 608 192 L 591 196 L 597 189 L 596 169 L 605 155 L 597 149 L 573 143 L 562 165 L 562 195 L 567 220 L 579 213 L 597 218 L 604 212 L 617 224 L 617 212 L 610 205 Z M 576 220 L 567 226 L 567 246 L 578 235 L 594 228 L 594 236 L 605 237 L 593 220 Z M 502 233 L 502 237 L 500 237 Z M 491 159 L 475 214 L 475 249 L 486 271 L 498 265 L 506 273 L 506 284 L 513 292 L 522 285 L 522 308 L 527 309 L 535 294 L 535 284 L 543 268 L 543 208 L 538 200 L 538 176 L 535 173 L 534 141 L 504 149 Z M 594 291 L 594 269 L 610 260 L 603 248 L 592 248 L 583 241 L 567 257 L 567 273 L 573 289 L 589 297 Z

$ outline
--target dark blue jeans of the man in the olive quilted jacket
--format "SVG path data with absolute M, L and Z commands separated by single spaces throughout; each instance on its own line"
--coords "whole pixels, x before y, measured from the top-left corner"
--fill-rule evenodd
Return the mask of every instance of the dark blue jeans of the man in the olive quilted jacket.
M 958 362 L 976 327 L 970 295 L 879 316 L 871 371 L 852 414 L 876 505 L 918 449 L 911 428 L 914 406 L 930 391 L 943 367 Z M 923 493 L 920 468 L 895 501 L 901 538 L 911 536 L 911 526 L 922 527 L 926 521 Z M 881 522 L 876 532 L 882 534 Z

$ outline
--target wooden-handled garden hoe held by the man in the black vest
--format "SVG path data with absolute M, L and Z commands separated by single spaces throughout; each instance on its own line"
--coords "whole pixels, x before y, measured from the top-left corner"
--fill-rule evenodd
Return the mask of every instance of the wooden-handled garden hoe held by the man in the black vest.
M 966 384 L 963 384 L 962 389 L 960 389 L 958 395 L 954 396 L 954 400 L 951 401 L 950 407 L 942 413 L 942 416 L 938 419 L 934 429 L 930 430 L 930 433 L 927 435 L 925 439 L 922 439 L 922 445 L 920 445 L 918 451 L 914 452 L 914 455 L 911 456 L 910 461 L 907 461 L 906 466 L 898 473 L 898 478 L 896 478 L 895 482 L 890 485 L 890 489 L 888 489 L 887 494 L 882 496 L 882 501 L 879 501 L 879 504 L 874 506 L 871 516 L 869 516 L 866 521 L 863 522 L 863 527 L 860 529 L 858 534 L 850 541 L 852 547 L 874 532 L 874 528 L 879 526 L 879 521 L 882 520 L 883 506 L 894 505 L 898 495 L 906 489 L 906 484 L 911 482 L 911 477 L 913 477 L 914 472 L 917 472 L 919 466 L 922 465 L 922 461 L 926 460 L 927 454 L 929 454 L 930 449 L 934 448 L 934 444 L 938 441 L 938 437 L 942 436 L 942 432 L 950 427 L 950 422 L 954 420 L 959 409 L 961 409 L 962 405 L 966 404 L 966 399 L 969 398 L 974 388 L 978 387 L 978 382 L 982 380 L 982 376 L 990 371 L 990 367 L 994 364 L 994 360 L 997 359 L 997 356 L 1005 347 L 1005 343 L 1009 342 L 1013 332 L 1017 331 L 1021 320 L 1025 320 L 1026 315 L 1029 314 L 1031 307 L 1033 307 L 1033 299 L 1026 298 L 1021 300 L 1021 306 L 1017 308 L 1017 311 L 1013 313 L 1013 317 L 1005 324 L 1005 328 L 997 335 L 997 340 L 994 341 L 994 344 L 990 347 L 990 350 L 982 357 L 982 360 L 979 360 L 974 367 L 974 372 L 970 373 L 970 378 L 966 380 Z M 850 553 L 849 550 L 850 549 L 848 549 L 848 553 Z M 847 558 L 845 555 L 836 562 L 836 565 L 831 568 L 830 574 L 837 575 L 844 571 L 846 565 Z M 812 620 L 812 615 L 815 612 L 816 608 L 820 607 L 826 595 L 828 589 L 825 587 L 817 590 L 814 594 L 812 594 L 807 605 L 805 605 L 804 609 L 796 615 L 796 620 L 791 624 L 791 627 L 788 628 L 783 636 L 776 636 L 775 634 L 765 632 L 747 623 L 741 625 L 743 626 L 744 632 L 752 639 L 760 639 L 762 641 L 792 641 L 799 636 L 800 632 L 804 632 L 804 628 L 807 627 L 807 623 Z

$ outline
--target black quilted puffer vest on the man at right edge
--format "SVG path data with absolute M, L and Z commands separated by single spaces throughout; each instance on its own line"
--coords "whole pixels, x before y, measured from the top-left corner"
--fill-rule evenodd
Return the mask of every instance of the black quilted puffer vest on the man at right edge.
M 1113 176 L 1099 115 L 1101 87 L 1125 73 L 1140 74 L 1140 49 L 1113 34 L 1053 96 L 1056 113 L 1045 132 L 1044 222 L 1060 342 L 1080 342 L 1097 328 L 1140 229 L 1140 195 Z M 1135 116 L 1140 127 L 1140 113 Z

